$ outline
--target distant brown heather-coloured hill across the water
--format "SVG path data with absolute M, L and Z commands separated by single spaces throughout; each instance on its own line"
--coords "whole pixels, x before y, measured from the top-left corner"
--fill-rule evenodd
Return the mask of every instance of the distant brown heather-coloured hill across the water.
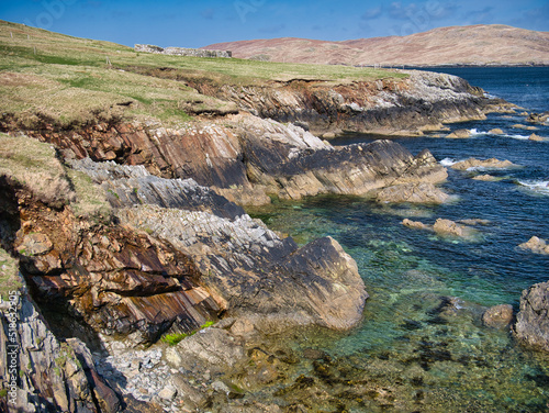
M 295 37 L 217 43 L 233 57 L 344 65 L 549 65 L 549 32 L 502 24 L 434 29 L 345 42 Z

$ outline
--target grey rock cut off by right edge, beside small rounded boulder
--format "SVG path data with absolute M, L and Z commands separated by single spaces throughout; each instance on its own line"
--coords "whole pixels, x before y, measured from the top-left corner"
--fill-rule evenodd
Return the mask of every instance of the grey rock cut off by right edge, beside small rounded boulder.
M 527 346 L 549 351 L 549 282 L 524 290 L 520 311 L 514 326 L 515 336 Z

